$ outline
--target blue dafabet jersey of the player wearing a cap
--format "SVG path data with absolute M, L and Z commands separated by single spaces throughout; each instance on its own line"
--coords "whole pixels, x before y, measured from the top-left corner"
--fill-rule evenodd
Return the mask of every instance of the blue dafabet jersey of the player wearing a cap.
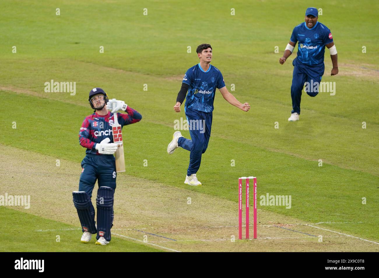
M 324 62 L 325 45 L 333 42 L 329 28 L 320 22 L 309 29 L 305 22 L 293 28 L 291 42 L 298 43 L 298 60 L 305 65 Z

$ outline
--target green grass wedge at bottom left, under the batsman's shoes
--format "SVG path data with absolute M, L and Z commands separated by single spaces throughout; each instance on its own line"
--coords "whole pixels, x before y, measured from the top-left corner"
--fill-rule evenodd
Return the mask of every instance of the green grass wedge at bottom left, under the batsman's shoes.
M 3 234 L 0 252 L 161 251 L 142 243 L 125 241 L 117 236 L 112 237 L 114 244 L 109 244 L 106 248 L 93 244 L 96 241 L 95 236 L 88 244 L 77 244 L 78 237 L 73 231 L 80 229 L 78 227 L 4 207 L 0 207 L 0 212 Z

